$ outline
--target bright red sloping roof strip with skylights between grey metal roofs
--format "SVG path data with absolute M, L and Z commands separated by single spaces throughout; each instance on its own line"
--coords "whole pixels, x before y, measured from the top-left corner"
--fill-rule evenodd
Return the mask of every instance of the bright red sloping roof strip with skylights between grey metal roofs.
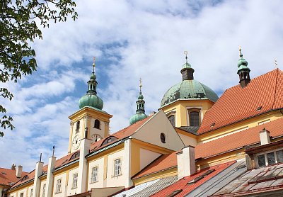
M 235 163 L 235 162 L 229 162 L 229 163 L 226 163 L 226 164 L 219 164 L 219 165 L 214 166 L 214 167 L 209 167 L 209 168 L 197 171 L 197 173 L 192 174 L 191 176 L 186 176 L 183 179 L 180 179 L 175 184 L 168 186 L 167 188 L 163 189 L 162 191 L 159 191 L 158 193 L 155 193 L 153 196 L 168 196 L 171 193 L 173 193 L 173 191 L 177 191 L 177 190 L 180 190 L 180 189 L 182 189 L 182 191 L 180 193 L 178 193 L 175 197 L 185 196 L 187 193 L 190 193 L 190 191 L 192 191 L 195 188 L 197 188 L 198 186 L 204 184 L 205 181 L 208 181 L 209 179 L 211 179 L 216 174 L 219 174 L 221 171 L 223 171 L 227 167 L 231 166 L 231 164 L 233 164 L 233 163 Z M 204 174 L 209 169 L 214 169 L 215 171 L 213 171 L 211 174 L 208 174 L 207 176 L 204 176 L 204 178 L 200 179 L 200 181 L 197 181 L 195 184 L 187 184 L 189 181 L 192 181 L 193 179 L 201 176 L 202 174 Z

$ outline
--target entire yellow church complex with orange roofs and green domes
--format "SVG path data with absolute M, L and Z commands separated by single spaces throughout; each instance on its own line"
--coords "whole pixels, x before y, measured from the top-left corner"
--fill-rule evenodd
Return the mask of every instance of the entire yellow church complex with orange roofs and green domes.
M 0 168 L 1 196 L 283 195 L 283 72 L 251 79 L 240 49 L 239 82 L 219 98 L 195 80 L 185 55 L 180 83 L 157 112 L 146 114 L 140 84 L 136 113 L 116 133 L 93 62 L 88 91 L 69 116 L 66 156 L 53 152 L 30 172 Z

